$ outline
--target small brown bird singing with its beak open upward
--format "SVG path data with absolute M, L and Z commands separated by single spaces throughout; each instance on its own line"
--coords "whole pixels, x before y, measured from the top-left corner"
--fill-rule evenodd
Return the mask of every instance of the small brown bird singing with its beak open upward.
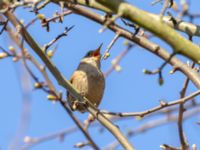
M 70 79 L 73 87 L 96 107 L 101 102 L 105 88 L 105 78 L 100 70 L 101 46 L 102 44 L 96 50 L 87 52 Z M 72 110 L 82 113 L 86 111 L 85 107 L 81 106 L 80 102 L 69 92 L 67 98 Z

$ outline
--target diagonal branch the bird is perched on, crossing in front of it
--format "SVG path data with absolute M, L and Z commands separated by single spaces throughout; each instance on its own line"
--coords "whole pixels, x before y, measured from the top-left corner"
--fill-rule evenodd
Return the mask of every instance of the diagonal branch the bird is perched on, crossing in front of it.
M 121 133 L 119 128 L 113 125 L 103 114 L 99 113 L 99 111 L 95 107 L 93 107 L 85 97 L 82 97 L 78 93 L 78 91 L 73 88 L 70 82 L 64 78 L 64 76 L 59 72 L 56 66 L 45 55 L 45 53 L 42 51 L 39 45 L 34 41 L 34 39 L 30 36 L 30 34 L 26 31 L 24 26 L 18 21 L 18 19 L 9 11 L 6 11 L 4 15 L 9 19 L 9 21 L 11 21 L 11 23 L 18 29 L 18 31 L 20 31 L 20 34 L 24 38 L 24 40 L 42 59 L 42 61 L 45 63 L 49 71 L 56 78 L 58 84 L 63 86 L 68 91 L 70 91 L 70 93 L 79 101 L 87 102 L 89 104 L 89 106 L 87 107 L 88 112 L 90 112 L 93 116 L 95 116 L 96 119 L 99 120 L 99 122 L 116 137 L 116 139 L 122 144 L 122 146 L 125 149 L 133 150 L 132 145 L 128 142 L 126 137 Z

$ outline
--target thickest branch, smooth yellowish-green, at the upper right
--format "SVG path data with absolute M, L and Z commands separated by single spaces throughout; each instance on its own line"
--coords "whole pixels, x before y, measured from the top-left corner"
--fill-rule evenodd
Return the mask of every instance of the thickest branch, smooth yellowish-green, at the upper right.
M 61 0 L 53 0 L 58 2 Z M 69 0 L 65 0 L 69 2 Z M 200 63 L 200 47 L 193 44 L 178 34 L 173 28 L 165 24 L 161 19 L 155 19 L 148 12 L 140 10 L 133 5 L 130 5 L 123 0 L 76 0 L 78 4 L 92 7 L 117 14 L 129 21 L 138 24 L 146 30 L 157 35 L 163 41 L 167 42 L 174 52 L 182 54 L 193 61 Z

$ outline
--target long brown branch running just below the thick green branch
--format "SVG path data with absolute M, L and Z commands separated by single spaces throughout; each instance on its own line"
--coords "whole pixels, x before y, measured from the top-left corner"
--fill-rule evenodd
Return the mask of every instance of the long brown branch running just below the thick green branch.
M 98 15 L 97 13 L 88 10 L 82 6 L 79 5 L 67 5 L 66 7 L 72 9 L 74 13 L 77 13 L 79 15 L 82 15 L 88 19 L 91 19 L 97 23 L 104 24 L 105 19 L 102 18 L 102 16 Z M 120 36 L 137 43 L 141 47 L 147 49 L 149 52 L 159 56 L 160 58 L 164 59 L 165 61 L 169 60 L 170 54 L 163 48 L 161 48 L 159 45 L 149 41 L 145 37 L 142 36 L 134 36 L 133 33 L 130 31 L 116 25 L 116 24 L 110 24 L 108 26 L 110 30 L 112 30 L 115 33 L 120 33 Z M 169 63 L 174 66 L 177 70 L 180 70 L 182 73 L 184 73 L 187 77 L 190 78 L 190 80 L 195 84 L 198 88 L 200 88 L 200 76 L 198 75 L 197 71 L 191 69 L 186 64 L 182 63 L 179 59 L 176 57 L 173 57 L 170 59 Z

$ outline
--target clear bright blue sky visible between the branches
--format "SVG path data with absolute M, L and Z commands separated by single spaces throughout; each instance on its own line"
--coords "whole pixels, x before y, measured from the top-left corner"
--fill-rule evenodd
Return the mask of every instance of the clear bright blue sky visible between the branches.
M 161 5 L 151 6 L 151 2 L 152 0 L 130 1 L 130 3 L 143 10 L 158 14 Z M 190 11 L 198 13 L 200 2 L 193 0 L 191 4 L 192 10 Z M 47 8 L 43 9 L 41 13 L 44 13 L 46 17 L 51 17 L 55 10 L 58 10 L 58 7 L 49 5 Z M 28 23 L 31 18 L 34 17 L 34 15 L 26 9 L 18 9 L 16 15 L 20 19 L 25 20 L 25 23 Z M 199 20 L 195 20 L 195 23 L 199 24 Z M 104 51 L 115 36 L 114 33 L 109 30 L 99 34 L 98 30 L 102 27 L 101 25 L 78 15 L 65 17 L 63 24 L 52 23 L 50 25 L 50 32 L 46 32 L 44 28 L 41 28 L 39 21 L 37 21 L 29 28 L 29 32 L 42 46 L 52 40 L 55 35 L 62 33 L 64 27 L 72 25 L 75 25 L 75 27 L 70 31 L 67 37 L 59 41 L 58 50 L 52 58 L 52 61 L 67 79 L 70 78 L 80 59 L 88 50 L 95 49 L 103 42 Z M 164 48 L 171 52 L 170 47 L 163 41 L 157 38 L 153 38 L 152 41 L 162 44 Z M 123 42 L 124 39 L 120 38 L 112 47 L 111 56 L 106 61 L 102 62 L 103 72 L 108 70 L 112 59 L 125 49 Z M 195 38 L 195 42 L 199 42 L 198 38 Z M 7 48 L 10 43 L 7 34 L 4 33 L 0 37 L 1 46 Z M 33 51 L 29 47 L 27 48 L 30 53 L 38 59 Z M 184 61 L 187 60 L 182 57 L 181 59 Z M 148 76 L 144 75 L 142 72 L 144 68 L 154 70 L 158 68 L 162 62 L 160 58 L 157 58 L 141 47 L 131 49 L 120 63 L 122 67 L 121 72 L 112 72 L 112 74 L 106 78 L 105 94 L 99 108 L 116 112 L 142 111 L 158 105 L 160 99 L 166 101 L 178 99 L 179 91 L 185 79 L 183 74 L 177 72 L 174 75 L 170 75 L 169 71 L 172 67 L 167 65 L 163 72 L 165 83 L 163 86 L 159 86 L 156 75 Z M 10 58 L 0 60 L 0 67 L 0 149 L 3 150 L 9 148 L 19 128 L 23 100 L 22 87 L 20 86 L 20 72 L 23 70 L 23 67 L 21 62 L 14 63 Z M 42 79 L 40 73 L 36 71 L 36 69 L 33 70 L 35 74 Z M 57 85 L 54 78 L 52 76 L 50 77 L 55 83 L 57 90 L 65 92 L 62 87 Z M 27 82 L 27 85 L 29 86 L 30 92 L 30 121 L 25 135 L 41 137 L 74 126 L 74 123 L 60 104 L 54 104 L 48 101 L 46 98 L 47 95 L 44 92 L 33 90 L 33 82 Z M 196 88 L 190 84 L 187 94 L 195 90 Z M 75 112 L 75 114 L 80 120 L 84 120 L 87 117 L 87 114 L 80 114 L 78 112 Z M 159 116 L 154 116 L 140 121 L 135 118 L 130 118 L 126 121 L 119 121 L 117 124 L 125 133 L 151 119 L 158 118 Z M 199 120 L 200 118 L 198 116 L 194 116 L 184 123 L 184 129 L 190 144 L 196 143 L 199 145 L 200 143 L 199 134 L 197 134 L 199 133 L 200 126 L 195 124 Z M 112 142 L 114 137 L 106 130 L 100 133 L 100 128 L 101 126 L 93 127 L 89 132 L 98 145 L 103 148 Z M 35 145 L 32 147 L 32 150 L 75 149 L 73 145 L 82 141 L 85 141 L 82 133 L 74 132 L 67 135 L 63 142 L 59 139 L 50 140 Z M 134 144 L 135 148 L 139 150 L 159 149 L 159 146 L 164 143 L 179 146 L 177 125 L 176 123 L 172 123 L 149 130 L 131 138 L 130 141 Z M 88 147 L 85 149 L 87 148 Z M 119 147 L 118 149 L 122 148 Z

